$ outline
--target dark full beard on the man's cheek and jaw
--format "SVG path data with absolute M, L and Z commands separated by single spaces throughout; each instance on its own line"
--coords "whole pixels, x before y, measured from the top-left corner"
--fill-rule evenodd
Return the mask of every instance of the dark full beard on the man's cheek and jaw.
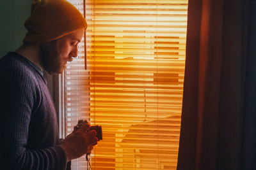
M 63 69 L 65 69 L 65 66 L 61 64 L 61 52 L 58 49 L 58 39 L 49 43 L 43 43 L 39 47 L 42 67 L 49 74 L 60 74 L 63 72 Z

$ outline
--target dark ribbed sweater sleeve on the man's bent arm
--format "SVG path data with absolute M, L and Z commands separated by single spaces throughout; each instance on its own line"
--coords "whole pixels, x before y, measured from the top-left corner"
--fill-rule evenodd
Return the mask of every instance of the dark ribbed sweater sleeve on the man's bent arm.
M 67 158 L 56 145 L 27 148 L 29 122 L 35 110 L 35 83 L 19 69 L 0 69 L 1 167 L 4 169 L 65 169 Z M 38 95 L 37 95 L 38 96 Z

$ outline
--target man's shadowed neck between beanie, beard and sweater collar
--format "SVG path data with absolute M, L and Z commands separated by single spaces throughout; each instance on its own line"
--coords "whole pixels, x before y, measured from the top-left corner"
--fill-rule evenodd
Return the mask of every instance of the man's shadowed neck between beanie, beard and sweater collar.
M 15 50 L 16 53 L 19 53 L 26 59 L 33 62 L 36 66 L 40 67 L 42 70 L 42 64 L 40 59 L 40 53 L 39 53 L 39 45 L 32 45 L 32 44 L 23 44 Z

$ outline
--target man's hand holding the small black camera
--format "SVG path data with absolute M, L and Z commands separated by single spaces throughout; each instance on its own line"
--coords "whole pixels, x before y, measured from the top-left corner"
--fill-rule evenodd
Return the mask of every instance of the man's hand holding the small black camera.
M 89 130 L 90 124 L 83 124 L 80 129 L 73 131 L 64 139 L 60 146 L 67 155 L 67 162 L 92 152 L 93 146 L 97 145 L 97 132 Z

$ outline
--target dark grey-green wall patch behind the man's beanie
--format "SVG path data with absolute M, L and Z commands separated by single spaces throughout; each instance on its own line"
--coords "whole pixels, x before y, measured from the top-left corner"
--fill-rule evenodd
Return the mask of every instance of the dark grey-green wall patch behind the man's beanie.
M 32 0 L 0 0 L 0 57 L 22 45 Z

